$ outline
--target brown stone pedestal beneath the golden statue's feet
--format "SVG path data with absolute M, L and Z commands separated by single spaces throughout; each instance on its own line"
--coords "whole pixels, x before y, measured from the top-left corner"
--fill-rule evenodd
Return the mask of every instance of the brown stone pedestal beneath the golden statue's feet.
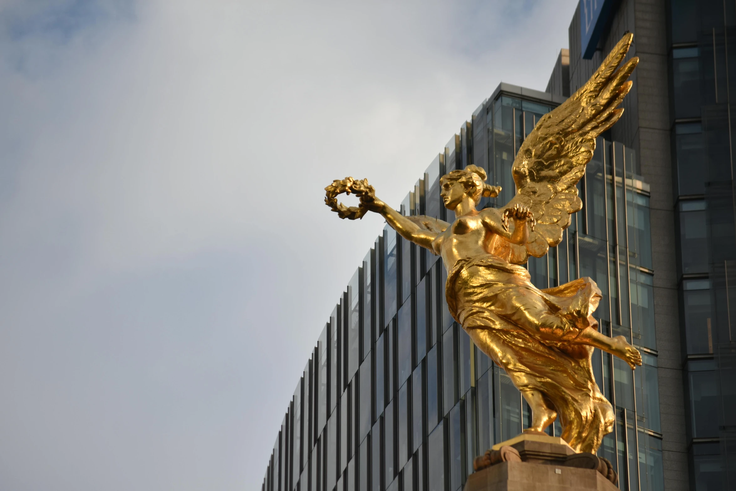
M 464 491 L 614 491 L 618 482 L 609 462 L 575 453 L 565 440 L 521 434 L 494 445 L 475 459 Z

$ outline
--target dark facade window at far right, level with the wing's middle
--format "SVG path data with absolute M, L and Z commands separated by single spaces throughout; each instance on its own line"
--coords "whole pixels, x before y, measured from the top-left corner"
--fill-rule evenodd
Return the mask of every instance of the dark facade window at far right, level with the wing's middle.
M 704 194 L 708 166 L 700 123 L 675 126 L 675 156 L 679 194 Z

